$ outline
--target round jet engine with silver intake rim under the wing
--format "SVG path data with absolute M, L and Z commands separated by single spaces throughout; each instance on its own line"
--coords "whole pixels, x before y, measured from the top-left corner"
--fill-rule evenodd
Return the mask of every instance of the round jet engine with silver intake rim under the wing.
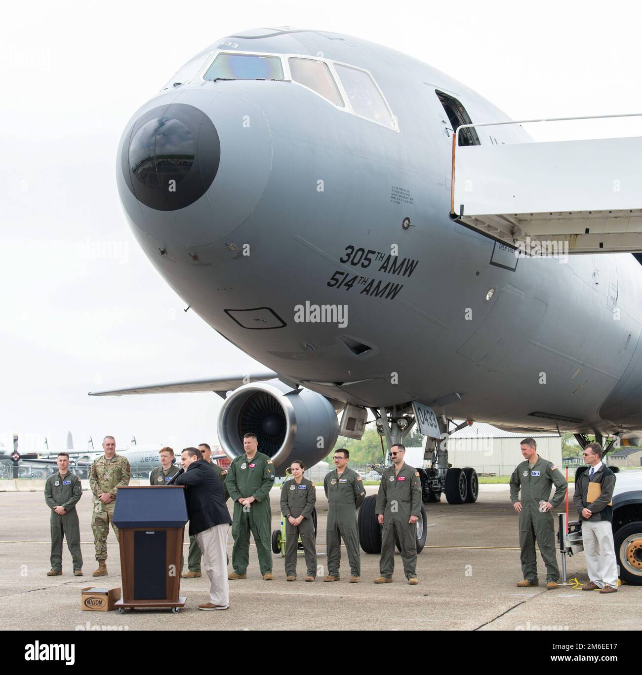
M 293 460 L 314 466 L 332 451 L 339 435 L 337 414 L 328 399 L 277 379 L 234 389 L 218 414 L 218 439 L 233 460 L 242 455 L 243 435 L 255 433 L 259 452 L 274 462 L 277 476 Z

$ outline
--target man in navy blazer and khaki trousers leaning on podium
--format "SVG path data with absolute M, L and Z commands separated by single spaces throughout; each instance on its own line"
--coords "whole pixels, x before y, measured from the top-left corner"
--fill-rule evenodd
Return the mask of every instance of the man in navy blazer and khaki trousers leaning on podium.
M 226 548 L 232 520 L 225 504 L 223 484 L 197 448 L 185 448 L 180 455 L 184 473 L 173 482 L 187 487 L 189 533 L 203 551 L 203 565 L 209 578 L 209 602 L 199 610 L 226 610 L 230 606 Z

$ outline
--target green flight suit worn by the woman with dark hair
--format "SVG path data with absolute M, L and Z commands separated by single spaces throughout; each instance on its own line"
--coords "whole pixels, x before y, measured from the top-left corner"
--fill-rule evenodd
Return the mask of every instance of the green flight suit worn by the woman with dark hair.
M 307 575 L 316 577 L 316 537 L 312 512 L 316 504 L 316 487 L 312 481 L 302 478 L 297 484 L 295 479 L 285 481 L 281 488 L 281 513 L 285 516 L 285 576 L 297 576 L 297 552 L 299 537 L 305 551 Z M 303 520 L 293 525 L 288 516 Z

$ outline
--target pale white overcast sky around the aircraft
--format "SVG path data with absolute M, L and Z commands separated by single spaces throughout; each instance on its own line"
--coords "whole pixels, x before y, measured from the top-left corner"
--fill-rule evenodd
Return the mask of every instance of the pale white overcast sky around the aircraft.
M 87 391 L 260 366 L 162 281 L 125 223 L 126 121 L 190 57 L 255 26 L 352 34 L 458 78 L 514 119 L 642 112 L 638 3 L 30 2 L 0 27 L 0 434 L 216 443 L 214 394 Z M 642 134 L 585 125 L 537 138 Z M 635 130 L 634 130 L 635 129 Z M 555 134 L 558 134 L 555 136 Z M 3 440 L 0 437 L 0 441 Z M 6 442 L 6 441 L 5 441 Z M 96 442 L 97 447 L 99 443 Z

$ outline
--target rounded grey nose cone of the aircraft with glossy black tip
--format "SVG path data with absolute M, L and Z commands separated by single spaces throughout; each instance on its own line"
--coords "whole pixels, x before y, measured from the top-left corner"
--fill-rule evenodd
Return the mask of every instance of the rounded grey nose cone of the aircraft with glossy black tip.
M 128 126 L 118 191 L 132 223 L 163 246 L 224 238 L 255 209 L 272 163 L 262 111 L 228 92 L 182 92 Z

